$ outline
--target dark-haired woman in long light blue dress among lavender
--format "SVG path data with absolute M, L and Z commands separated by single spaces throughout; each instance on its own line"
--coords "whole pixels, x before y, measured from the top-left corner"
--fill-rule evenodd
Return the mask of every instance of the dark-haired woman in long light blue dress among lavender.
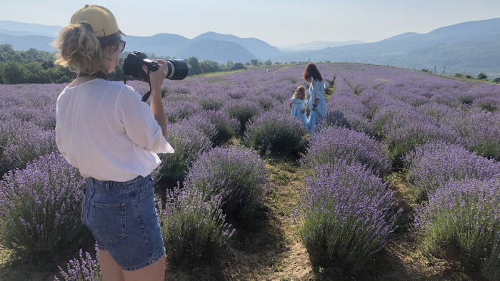
M 314 132 L 318 122 L 326 116 L 326 101 L 324 98 L 325 83 L 323 76 L 314 63 L 307 63 L 302 78 L 309 85 L 309 131 Z

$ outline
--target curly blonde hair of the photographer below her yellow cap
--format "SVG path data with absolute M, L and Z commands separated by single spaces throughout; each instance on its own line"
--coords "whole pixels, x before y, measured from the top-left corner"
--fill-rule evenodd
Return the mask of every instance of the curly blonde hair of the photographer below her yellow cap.
M 52 46 L 57 49 L 57 64 L 77 73 L 89 76 L 101 74 L 107 78 L 108 72 L 102 64 L 103 48 L 116 46 L 118 49 L 120 40 L 120 34 L 97 38 L 90 24 L 79 22 L 62 29 Z

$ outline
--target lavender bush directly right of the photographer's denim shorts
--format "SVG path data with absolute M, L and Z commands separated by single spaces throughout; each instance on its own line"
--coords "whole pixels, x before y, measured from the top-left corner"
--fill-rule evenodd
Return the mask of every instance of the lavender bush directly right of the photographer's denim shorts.
M 204 200 L 203 193 L 196 189 L 174 188 L 169 192 L 164 208 L 161 203 L 158 206 L 169 262 L 200 262 L 217 256 L 234 233 L 231 225 L 225 223 L 220 205 L 220 196 Z

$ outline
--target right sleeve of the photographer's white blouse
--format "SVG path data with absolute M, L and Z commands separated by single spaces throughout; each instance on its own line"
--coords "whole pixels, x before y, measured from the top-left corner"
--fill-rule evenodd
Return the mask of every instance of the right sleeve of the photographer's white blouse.
M 159 123 L 147 103 L 134 88 L 126 86 L 117 103 L 118 118 L 125 128 L 126 136 L 141 148 L 154 153 L 174 153 L 166 141 Z

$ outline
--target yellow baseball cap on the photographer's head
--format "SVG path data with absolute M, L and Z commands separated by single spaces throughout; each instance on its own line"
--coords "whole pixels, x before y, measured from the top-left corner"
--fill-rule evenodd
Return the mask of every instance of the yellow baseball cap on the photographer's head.
M 111 11 L 103 6 L 85 5 L 71 16 L 70 24 L 78 24 L 82 21 L 92 26 L 96 37 L 109 36 L 111 34 L 116 34 L 116 32 L 125 35 L 120 31 Z

